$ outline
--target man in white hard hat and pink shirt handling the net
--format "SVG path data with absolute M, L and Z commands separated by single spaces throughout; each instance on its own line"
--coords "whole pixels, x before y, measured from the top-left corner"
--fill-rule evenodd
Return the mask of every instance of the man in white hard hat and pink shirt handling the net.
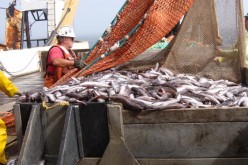
M 82 69 L 85 66 L 72 50 L 75 37 L 74 30 L 69 25 L 62 26 L 57 31 L 58 43 L 50 48 L 46 59 L 46 87 L 51 87 L 70 69 Z

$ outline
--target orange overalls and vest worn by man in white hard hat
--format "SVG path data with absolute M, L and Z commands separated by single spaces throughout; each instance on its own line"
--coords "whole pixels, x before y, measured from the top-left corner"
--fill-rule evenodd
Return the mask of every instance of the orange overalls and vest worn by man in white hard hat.
M 67 60 L 78 59 L 73 50 L 68 51 L 63 46 L 58 46 L 58 45 L 52 46 L 47 53 L 47 59 L 46 59 L 47 64 L 46 64 L 46 74 L 45 74 L 44 85 L 45 87 L 48 87 L 48 88 L 50 88 L 54 83 L 56 83 L 56 81 L 58 81 L 62 76 L 64 76 L 70 69 L 74 68 L 74 67 L 54 66 L 51 63 L 48 63 L 49 52 L 53 47 L 60 48 L 60 50 L 63 53 L 64 59 L 67 59 Z M 49 67 L 55 68 L 54 73 L 49 72 Z

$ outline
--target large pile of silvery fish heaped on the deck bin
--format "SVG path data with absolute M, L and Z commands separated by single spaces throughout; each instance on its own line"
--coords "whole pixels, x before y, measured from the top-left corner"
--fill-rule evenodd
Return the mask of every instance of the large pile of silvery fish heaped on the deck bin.
M 159 67 L 146 71 L 109 69 L 65 85 L 27 93 L 18 102 L 119 102 L 128 110 L 248 106 L 248 88 L 228 80 L 214 81 L 174 74 Z

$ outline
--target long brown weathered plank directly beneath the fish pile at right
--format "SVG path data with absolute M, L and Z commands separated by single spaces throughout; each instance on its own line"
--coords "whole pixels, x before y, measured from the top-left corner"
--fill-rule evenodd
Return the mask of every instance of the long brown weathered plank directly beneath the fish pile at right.
M 135 112 L 123 110 L 124 124 L 247 122 L 248 108 L 175 109 Z

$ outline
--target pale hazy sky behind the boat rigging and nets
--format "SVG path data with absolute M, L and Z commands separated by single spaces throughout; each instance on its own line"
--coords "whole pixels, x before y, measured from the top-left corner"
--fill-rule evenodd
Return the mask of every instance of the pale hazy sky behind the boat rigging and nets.
M 8 7 L 11 2 L 12 0 L 1 0 L 0 8 Z M 243 2 L 244 14 L 246 14 L 248 13 L 248 1 L 243 0 Z M 125 0 L 79 0 L 74 18 L 76 40 L 98 39 L 124 3 Z M 17 0 L 17 9 L 20 9 L 19 0 Z M 0 9 L 0 43 L 4 43 L 5 15 L 5 10 Z M 33 22 L 30 21 L 30 23 Z M 39 31 L 32 30 L 31 38 L 46 38 L 45 22 L 34 23 L 32 29 L 39 29 Z

